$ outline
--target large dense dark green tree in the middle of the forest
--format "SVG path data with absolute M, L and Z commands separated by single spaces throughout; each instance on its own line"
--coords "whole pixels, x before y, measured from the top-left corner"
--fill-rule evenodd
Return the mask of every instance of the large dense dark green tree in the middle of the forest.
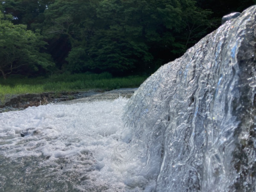
M 163 56 L 164 45 L 174 42 L 172 31 L 180 28 L 181 13 L 176 0 L 100 1 L 91 62 L 99 70 L 116 73 L 148 71 Z

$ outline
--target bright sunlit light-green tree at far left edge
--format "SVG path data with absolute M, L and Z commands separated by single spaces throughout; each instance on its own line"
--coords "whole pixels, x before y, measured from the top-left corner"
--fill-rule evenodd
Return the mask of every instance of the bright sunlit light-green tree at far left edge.
M 39 31 L 34 33 L 26 25 L 14 25 L 0 13 L 0 72 L 4 79 L 15 72 L 54 66 L 50 55 L 40 52 L 45 45 Z

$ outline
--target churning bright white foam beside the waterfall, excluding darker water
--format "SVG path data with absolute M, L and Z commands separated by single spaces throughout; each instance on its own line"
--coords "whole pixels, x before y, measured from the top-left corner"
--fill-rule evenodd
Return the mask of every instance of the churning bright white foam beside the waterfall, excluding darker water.
M 5 141 L 1 146 L 5 149 L 0 152 L 12 159 L 46 156 L 48 160 L 44 163 L 60 157 L 71 161 L 76 155 L 90 153 L 95 167 L 90 174 L 96 178 L 95 183 L 128 186 L 131 191 L 140 191 L 148 182 L 152 185 L 152 181 L 141 171 L 144 164 L 135 155 L 139 149 L 128 143 L 131 131 L 124 130 L 122 120 L 127 101 L 119 98 L 71 105 L 50 104 L 2 113 L 0 139 Z M 26 129 L 27 135 L 21 137 L 20 132 Z M 83 164 L 74 158 L 72 162 Z

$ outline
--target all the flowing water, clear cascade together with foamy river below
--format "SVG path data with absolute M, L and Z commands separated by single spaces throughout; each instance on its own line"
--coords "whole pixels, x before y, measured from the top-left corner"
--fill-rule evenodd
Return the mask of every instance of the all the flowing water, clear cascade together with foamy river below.
M 256 6 L 131 99 L 0 114 L 0 191 L 256 191 Z

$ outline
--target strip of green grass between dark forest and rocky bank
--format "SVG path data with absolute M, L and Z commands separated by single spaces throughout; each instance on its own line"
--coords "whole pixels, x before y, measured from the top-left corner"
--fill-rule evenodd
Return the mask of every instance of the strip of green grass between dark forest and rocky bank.
M 139 87 L 147 76 L 112 77 L 109 73 L 52 75 L 50 77 L 0 79 L 0 97 L 7 94 L 75 92 L 89 89 L 113 90 Z

